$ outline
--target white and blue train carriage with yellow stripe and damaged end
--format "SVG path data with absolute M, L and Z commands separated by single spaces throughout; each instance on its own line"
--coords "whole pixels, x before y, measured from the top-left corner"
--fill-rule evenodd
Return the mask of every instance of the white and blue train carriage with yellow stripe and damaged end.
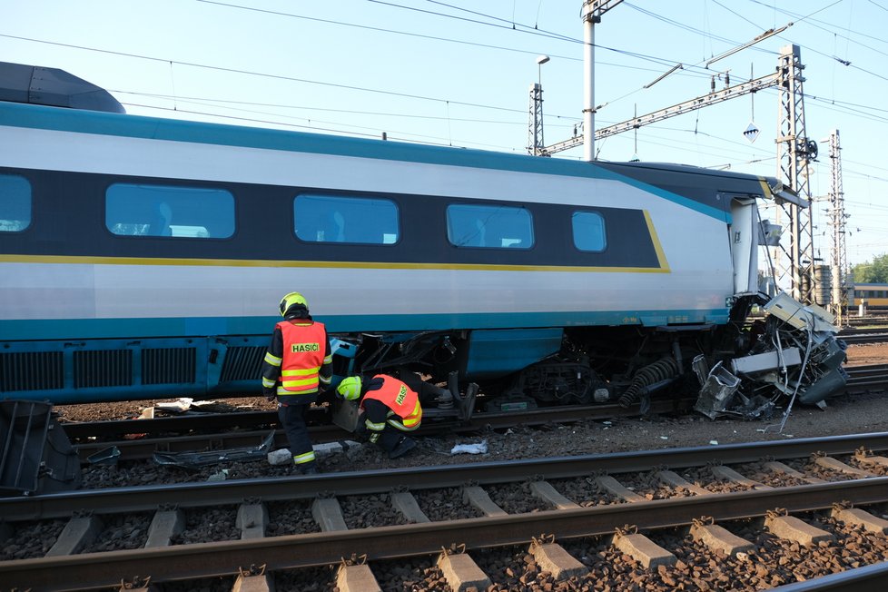
M 774 180 L 133 116 L 18 64 L 0 83 L 0 398 L 256 393 L 289 291 L 337 374 L 459 372 L 500 408 L 628 404 L 754 347 Z

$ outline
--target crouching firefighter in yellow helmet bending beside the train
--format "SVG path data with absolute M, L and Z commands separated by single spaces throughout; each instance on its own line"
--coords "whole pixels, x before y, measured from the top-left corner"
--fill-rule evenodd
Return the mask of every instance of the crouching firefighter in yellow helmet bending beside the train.
M 401 375 L 399 380 L 387 374 L 377 374 L 361 380 L 350 376 L 340 382 L 337 395 L 344 400 L 359 400 L 363 410 L 363 426 L 370 434 L 370 442 L 397 459 L 416 448 L 416 440 L 409 432 L 419 428 L 422 422 L 422 404 L 432 401 L 452 401 L 448 390 L 429 384 L 412 372 Z

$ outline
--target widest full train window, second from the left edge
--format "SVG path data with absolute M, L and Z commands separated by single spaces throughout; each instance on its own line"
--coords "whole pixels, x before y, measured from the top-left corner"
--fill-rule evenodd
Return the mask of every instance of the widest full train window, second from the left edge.
M 105 192 L 105 226 L 121 236 L 226 239 L 234 196 L 222 189 L 115 183 Z

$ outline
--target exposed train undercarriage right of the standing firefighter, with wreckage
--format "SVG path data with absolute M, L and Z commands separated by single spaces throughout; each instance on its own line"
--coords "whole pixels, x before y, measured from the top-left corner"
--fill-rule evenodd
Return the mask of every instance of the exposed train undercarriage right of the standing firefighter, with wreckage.
M 490 332 L 482 340 L 473 331 L 365 334 L 336 340 L 334 376 L 411 371 L 445 386 L 458 376 L 480 384 L 484 411 L 617 403 L 644 413 L 653 397 L 696 395 L 694 409 L 710 419 L 767 419 L 795 401 L 824 406 L 843 390 L 845 344 L 833 322 L 781 294 L 738 299 L 723 325 L 514 330 L 515 339 Z M 528 335 L 538 341 L 533 351 L 551 349 L 530 363 L 533 351 L 509 352 Z

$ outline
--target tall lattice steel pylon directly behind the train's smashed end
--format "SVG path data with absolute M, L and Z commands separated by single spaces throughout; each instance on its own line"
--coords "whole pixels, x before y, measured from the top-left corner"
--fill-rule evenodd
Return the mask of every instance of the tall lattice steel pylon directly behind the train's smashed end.
M 775 254 L 775 267 L 778 285 L 785 285 L 788 281 L 793 298 L 811 304 L 815 293 L 814 237 L 808 165 L 817 157 L 817 144 L 809 140 L 804 131 L 804 65 L 799 56 L 798 45 L 786 45 L 780 49 L 777 66 L 777 89 L 780 92 L 776 138 L 777 178 L 804 199 L 807 205 L 796 206 L 789 202 L 777 205 L 777 221 L 780 222 L 781 211 L 789 221 L 789 244 L 782 243 L 779 247 Z M 783 250 L 787 257 L 781 257 L 779 250 Z

